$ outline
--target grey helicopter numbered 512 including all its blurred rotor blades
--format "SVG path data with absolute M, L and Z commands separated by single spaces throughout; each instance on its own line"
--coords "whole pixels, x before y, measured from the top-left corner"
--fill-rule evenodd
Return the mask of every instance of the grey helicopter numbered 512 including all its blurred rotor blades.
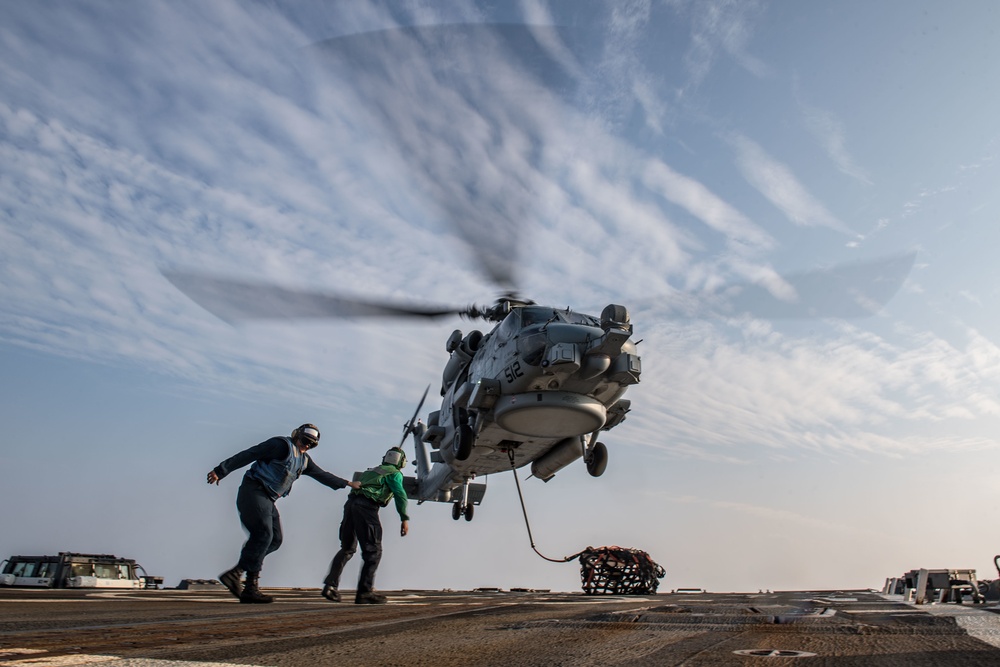
M 455 520 L 472 520 L 486 492 L 475 480 L 490 474 L 530 467 L 533 476 L 549 481 L 582 459 L 587 472 L 600 477 L 609 456 L 599 438 L 625 421 L 631 410 L 625 393 L 642 375 L 626 306 L 609 304 L 595 316 L 541 305 L 517 291 L 513 263 L 526 236 L 520 225 L 531 217 L 534 203 L 530 186 L 514 174 L 514 163 L 523 156 L 504 162 L 509 151 L 484 153 L 476 143 L 501 145 L 500 138 L 454 132 L 455 122 L 485 119 L 482 125 L 522 128 L 531 139 L 544 127 L 532 125 L 524 109 L 531 104 L 558 109 L 557 102 L 572 98 L 574 82 L 587 68 L 548 45 L 556 37 L 572 44 L 573 35 L 557 30 L 549 39 L 539 37 L 539 30 L 513 24 L 410 27 L 335 38 L 313 50 L 324 68 L 337 73 L 338 92 L 346 94 L 340 82 L 360 81 L 353 94 L 374 131 L 435 201 L 484 277 L 500 288 L 492 305 L 421 306 L 162 271 L 227 321 L 459 316 L 491 325 L 485 332 L 456 329 L 447 337 L 441 405 L 426 421 L 418 419 L 425 392 L 400 443 L 412 436 L 415 448 L 416 476 L 405 479 L 407 494 L 418 502 L 450 503 Z M 499 73 L 501 65 L 510 71 Z M 484 82 L 477 71 L 491 77 Z M 404 92 L 412 97 L 399 103 Z M 464 115 L 457 121 L 436 106 L 450 97 L 462 102 Z M 461 141 L 466 143 L 453 147 Z M 523 143 L 530 159 L 531 141 Z M 475 161 L 470 155 L 490 159 Z M 442 156 L 457 162 L 442 165 Z M 497 174 L 513 175 L 494 178 Z M 912 263 L 911 254 L 789 276 L 780 298 L 773 289 L 745 284 L 694 295 L 693 301 L 710 304 L 709 317 L 865 316 L 891 298 Z M 685 316 L 704 317 L 705 311 Z

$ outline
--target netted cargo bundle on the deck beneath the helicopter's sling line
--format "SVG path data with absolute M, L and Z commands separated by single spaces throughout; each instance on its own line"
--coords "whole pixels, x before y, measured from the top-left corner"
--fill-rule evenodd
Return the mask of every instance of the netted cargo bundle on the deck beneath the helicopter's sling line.
M 580 558 L 580 579 L 587 595 L 651 595 L 666 574 L 638 549 L 587 547 L 570 559 L 575 557 Z

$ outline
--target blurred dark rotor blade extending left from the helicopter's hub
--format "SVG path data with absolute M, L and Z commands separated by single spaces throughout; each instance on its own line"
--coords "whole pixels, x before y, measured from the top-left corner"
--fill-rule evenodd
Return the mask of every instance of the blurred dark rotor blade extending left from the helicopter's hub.
M 417 306 L 373 299 L 355 299 L 181 271 L 162 273 L 192 301 L 227 322 L 322 317 L 437 318 L 467 315 L 474 311 L 470 307 Z

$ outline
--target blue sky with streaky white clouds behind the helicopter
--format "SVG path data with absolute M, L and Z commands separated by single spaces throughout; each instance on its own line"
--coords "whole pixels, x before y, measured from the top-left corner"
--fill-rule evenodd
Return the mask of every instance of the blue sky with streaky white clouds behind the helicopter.
M 990 0 L 4 3 L 0 557 L 216 577 L 244 535 L 212 467 L 303 422 L 323 468 L 376 465 L 487 326 L 231 323 L 179 271 L 628 306 L 607 472 L 521 476 L 549 557 L 642 549 L 661 590 L 996 577 L 998 28 Z M 791 278 L 900 257 L 866 317 Z M 806 316 L 683 308 L 733 286 Z M 578 590 L 486 482 L 472 522 L 383 512 L 376 585 Z M 264 585 L 321 585 L 345 499 L 279 501 Z

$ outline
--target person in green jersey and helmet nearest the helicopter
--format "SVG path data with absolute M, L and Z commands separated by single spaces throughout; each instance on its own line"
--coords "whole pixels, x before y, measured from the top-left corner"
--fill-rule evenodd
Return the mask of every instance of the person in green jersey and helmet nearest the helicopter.
M 375 570 L 382 558 L 382 523 L 378 511 L 390 500 L 396 501 L 396 512 L 402 524 L 399 534 L 405 536 L 410 518 L 406 516 L 406 491 L 403 490 L 403 473 L 406 454 L 400 447 L 393 447 L 382 457 L 382 465 L 369 468 L 361 474 L 361 488 L 351 491 L 344 505 L 344 520 L 340 524 L 340 551 L 330 563 L 330 572 L 323 580 L 323 597 L 340 602 L 340 575 L 347 561 L 361 545 L 361 576 L 354 597 L 355 604 L 385 604 L 385 596 L 375 592 Z

